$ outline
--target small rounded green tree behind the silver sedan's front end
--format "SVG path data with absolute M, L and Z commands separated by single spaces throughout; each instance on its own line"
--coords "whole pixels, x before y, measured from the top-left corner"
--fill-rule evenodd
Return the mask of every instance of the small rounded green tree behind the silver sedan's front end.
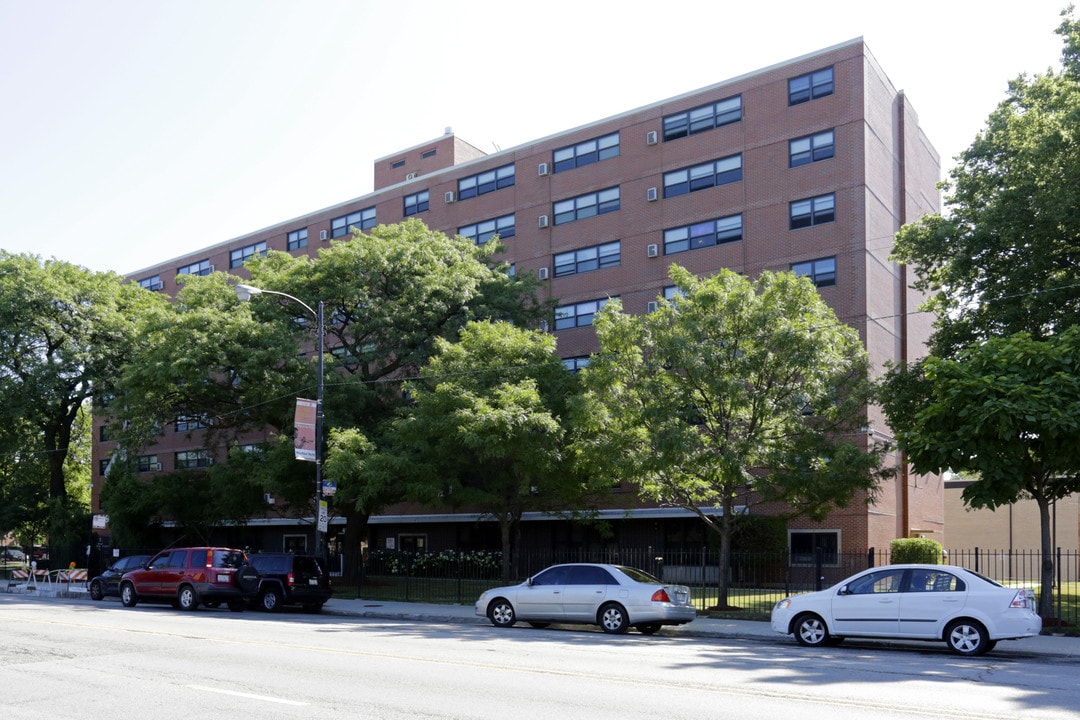
M 456 343 L 436 340 L 406 385 L 414 405 L 396 433 L 414 493 L 491 515 L 503 579 L 516 574 L 526 511 L 572 513 L 596 489 L 564 451 L 575 389 L 552 336 L 494 322 L 470 323 Z

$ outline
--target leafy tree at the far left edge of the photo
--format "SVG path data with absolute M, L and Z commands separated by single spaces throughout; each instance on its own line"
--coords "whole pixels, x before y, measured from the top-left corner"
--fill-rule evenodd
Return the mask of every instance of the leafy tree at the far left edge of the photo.
M 160 301 L 113 273 L 0 250 L 0 425 L 19 497 L 70 515 L 67 472 L 83 405 L 111 392 L 137 320 Z M 36 477 L 30 474 L 36 474 Z

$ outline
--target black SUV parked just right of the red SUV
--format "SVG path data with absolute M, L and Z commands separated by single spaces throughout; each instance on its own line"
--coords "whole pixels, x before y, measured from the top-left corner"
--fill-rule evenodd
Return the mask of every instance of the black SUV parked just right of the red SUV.
M 258 553 L 248 556 L 259 572 L 259 589 L 254 602 L 260 610 L 279 612 L 286 604 L 319 612 L 334 595 L 330 574 L 314 555 Z

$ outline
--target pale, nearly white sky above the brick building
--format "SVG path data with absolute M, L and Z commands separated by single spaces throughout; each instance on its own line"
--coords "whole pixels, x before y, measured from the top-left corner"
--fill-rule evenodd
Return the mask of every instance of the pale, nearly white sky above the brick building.
M 947 168 L 1059 66 L 1064 5 L 0 0 L 0 248 L 133 272 L 370 192 L 447 126 L 508 149 L 858 37 Z

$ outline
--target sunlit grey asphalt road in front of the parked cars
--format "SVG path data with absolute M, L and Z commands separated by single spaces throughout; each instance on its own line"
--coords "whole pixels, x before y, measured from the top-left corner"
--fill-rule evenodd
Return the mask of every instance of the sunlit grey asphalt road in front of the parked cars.
M 1075 720 L 1077 665 L 0 596 L 0 718 Z

